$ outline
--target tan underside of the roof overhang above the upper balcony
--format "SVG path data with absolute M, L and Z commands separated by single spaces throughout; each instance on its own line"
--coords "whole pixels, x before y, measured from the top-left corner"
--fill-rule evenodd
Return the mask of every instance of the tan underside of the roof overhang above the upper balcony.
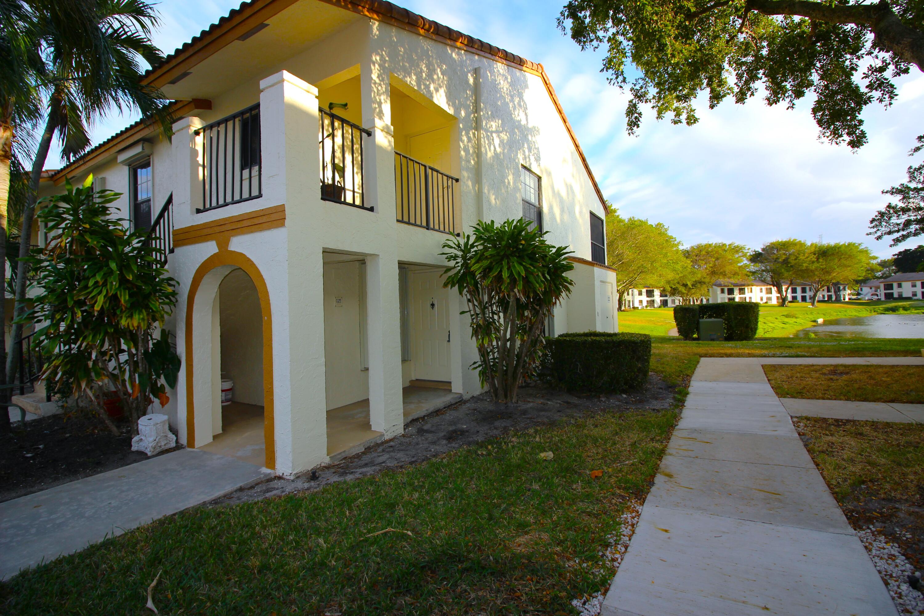
M 164 85 L 177 101 L 212 99 L 249 79 L 268 77 L 274 66 L 362 17 L 313 0 L 301 0 L 265 21 L 246 41 L 233 41 L 190 69 L 175 85 Z

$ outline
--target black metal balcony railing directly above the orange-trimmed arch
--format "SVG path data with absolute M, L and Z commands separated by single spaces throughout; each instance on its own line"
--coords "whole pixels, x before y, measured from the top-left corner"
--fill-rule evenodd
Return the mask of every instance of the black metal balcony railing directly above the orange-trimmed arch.
M 262 196 L 260 103 L 202 127 L 196 135 L 202 138 L 202 207 L 197 212 Z

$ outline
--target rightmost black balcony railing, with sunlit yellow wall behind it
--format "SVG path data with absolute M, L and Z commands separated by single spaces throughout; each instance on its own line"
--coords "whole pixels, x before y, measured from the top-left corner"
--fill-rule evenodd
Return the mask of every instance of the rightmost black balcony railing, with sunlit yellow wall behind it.
M 397 220 L 425 229 L 456 234 L 457 177 L 395 152 Z

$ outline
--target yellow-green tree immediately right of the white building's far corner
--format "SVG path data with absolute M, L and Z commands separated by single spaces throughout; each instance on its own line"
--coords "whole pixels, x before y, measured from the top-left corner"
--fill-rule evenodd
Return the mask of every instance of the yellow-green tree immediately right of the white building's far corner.
M 689 267 L 680 241 L 663 223 L 623 218 L 615 211 L 606 217 L 606 261 L 616 270 L 620 310 L 629 289 L 666 287 Z

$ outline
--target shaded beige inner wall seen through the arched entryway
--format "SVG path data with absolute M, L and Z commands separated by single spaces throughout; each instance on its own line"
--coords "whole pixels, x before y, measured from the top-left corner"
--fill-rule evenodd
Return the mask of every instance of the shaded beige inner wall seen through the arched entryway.
M 263 405 L 260 296 L 247 272 L 229 272 L 218 287 L 222 377 L 234 380 L 235 402 Z

